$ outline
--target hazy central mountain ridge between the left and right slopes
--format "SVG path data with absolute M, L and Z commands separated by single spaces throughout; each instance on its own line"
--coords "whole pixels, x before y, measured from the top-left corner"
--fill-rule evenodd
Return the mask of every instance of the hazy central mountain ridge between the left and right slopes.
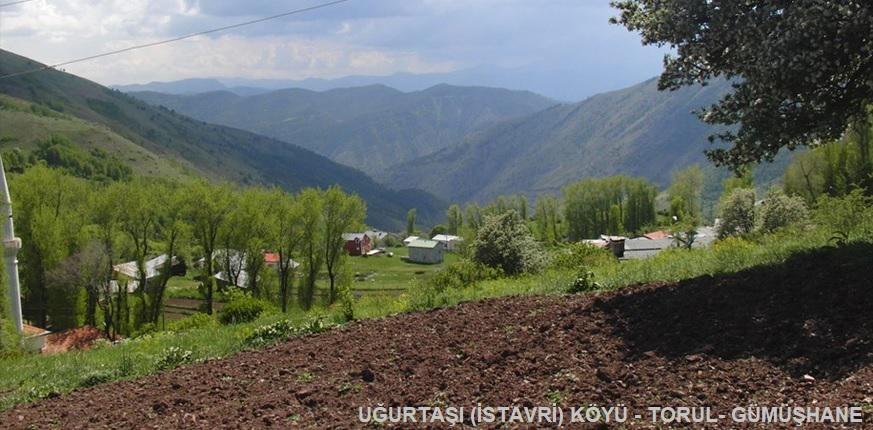
M 450 85 L 410 93 L 369 85 L 247 97 L 227 91 L 131 95 L 203 121 L 300 145 L 375 176 L 454 145 L 469 133 L 554 104 L 526 91 Z

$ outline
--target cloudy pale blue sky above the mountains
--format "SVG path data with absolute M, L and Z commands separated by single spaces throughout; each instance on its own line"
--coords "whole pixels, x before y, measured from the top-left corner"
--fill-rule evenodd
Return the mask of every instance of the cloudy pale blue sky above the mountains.
M 54 63 L 319 0 L 34 0 L 2 9 L 0 46 Z M 657 75 L 664 50 L 610 25 L 608 0 L 351 0 L 245 29 L 71 65 L 103 84 L 336 78 L 470 68 L 550 72 L 591 91 Z M 495 72 L 496 73 L 496 72 Z M 511 79 L 510 79 L 511 81 Z M 586 90 L 588 91 L 588 90 Z

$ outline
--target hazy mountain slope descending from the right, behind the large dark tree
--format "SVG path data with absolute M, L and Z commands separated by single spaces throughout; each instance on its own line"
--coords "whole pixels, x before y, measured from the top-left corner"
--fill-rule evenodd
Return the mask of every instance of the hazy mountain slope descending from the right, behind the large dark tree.
M 708 163 L 703 151 L 713 129 L 692 111 L 729 89 L 722 81 L 660 92 L 652 79 L 501 123 L 396 166 L 384 182 L 453 201 L 554 193 L 579 178 L 615 174 L 665 185 L 677 168 Z

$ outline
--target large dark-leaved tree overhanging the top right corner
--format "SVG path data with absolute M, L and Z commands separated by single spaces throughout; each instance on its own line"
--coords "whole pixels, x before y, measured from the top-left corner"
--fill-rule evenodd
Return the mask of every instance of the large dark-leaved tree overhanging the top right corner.
M 868 121 L 873 102 L 873 3 L 867 0 L 620 0 L 612 22 L 669 46 L 659 87 L 731 79 L 734 91 L 700 112 L 731 145 L 708 151 L 739 168 L 781 148 L 838 138 Z M 853 126 L 855 127 L 855 126 Z M 858 126 L 866 129 L 866 126 Z

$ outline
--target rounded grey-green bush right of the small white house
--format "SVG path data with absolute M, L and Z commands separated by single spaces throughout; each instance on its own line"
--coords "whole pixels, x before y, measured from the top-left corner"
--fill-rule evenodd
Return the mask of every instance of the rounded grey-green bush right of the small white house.
M 472 244 L 472 258 L 507 275 L 537 273 L 546 263 L 539 243 L 514 210 L 485 218 Z

